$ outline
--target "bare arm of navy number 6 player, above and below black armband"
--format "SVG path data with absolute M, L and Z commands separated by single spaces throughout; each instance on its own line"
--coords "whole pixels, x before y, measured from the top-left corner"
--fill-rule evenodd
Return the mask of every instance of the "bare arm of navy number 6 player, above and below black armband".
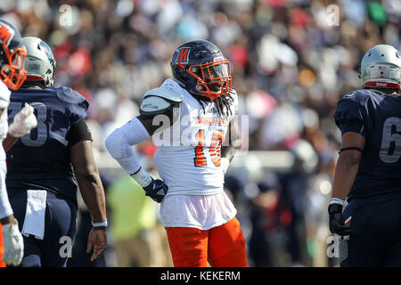
M 361 134 L 347 132 L 342 135 L 342 148 L 358 147 L 364 150 L 365 139 Z M 359 169 L 360 151 L 341 151 L 334 174 L 332 198 L 346 199 Z

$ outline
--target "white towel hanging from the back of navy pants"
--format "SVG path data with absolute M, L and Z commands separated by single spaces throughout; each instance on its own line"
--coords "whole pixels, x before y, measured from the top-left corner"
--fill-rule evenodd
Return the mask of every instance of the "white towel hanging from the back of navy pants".
M 43 240 L 45 236 L 45 190 L 29 190 L 27 199 L 27 211 L 21 233 L 26 237 L 34 235 L 37 240 Z

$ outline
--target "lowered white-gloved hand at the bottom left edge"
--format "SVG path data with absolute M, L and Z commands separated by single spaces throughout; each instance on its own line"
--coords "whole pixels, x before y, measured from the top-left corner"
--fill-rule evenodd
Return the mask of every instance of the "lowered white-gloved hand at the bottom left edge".
M 4 255 L 2 261 L 7 265 L 18 266 L 24 256 L 24 240 L 18 224 L 3 224 Z

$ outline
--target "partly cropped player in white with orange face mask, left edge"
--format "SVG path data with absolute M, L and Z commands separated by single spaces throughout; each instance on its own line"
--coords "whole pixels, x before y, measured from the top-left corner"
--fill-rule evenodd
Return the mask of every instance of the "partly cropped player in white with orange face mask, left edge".
M 29 134 L 37 126 L 37 118 L 33 114 L 33 107 L 26 104 L 20 110 L 12 124 L 8 126 L 7 108 L 10 103 L 10 89 L 17 90 L 27 77 L 24 69 L 26 51 L 20 45 L 20 32 L 5 20 L 0 20 L 0 241 L 3 230 L 4 245 L 0 242 L 1 260 L 7 265 L 19 265 L 23 256 L 23 240 L 18 224 L 13 216 L 12 208 L 5 189 L 5 152 L 4 139 L 8 144 L 5 151 L 18 138 Z M 5 147 L 5 146 L 4 146 Z M 1 266 L 1 265 L 0 265 Z

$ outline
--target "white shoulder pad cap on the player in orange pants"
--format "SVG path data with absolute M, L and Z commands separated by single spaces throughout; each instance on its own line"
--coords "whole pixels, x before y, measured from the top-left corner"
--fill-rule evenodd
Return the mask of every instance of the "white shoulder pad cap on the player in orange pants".
M 181 102 L 183 102 L 183 96 L 173 89 L 154 88 L 143 95 L 139 113 L 145 117 L 166 114 Z

